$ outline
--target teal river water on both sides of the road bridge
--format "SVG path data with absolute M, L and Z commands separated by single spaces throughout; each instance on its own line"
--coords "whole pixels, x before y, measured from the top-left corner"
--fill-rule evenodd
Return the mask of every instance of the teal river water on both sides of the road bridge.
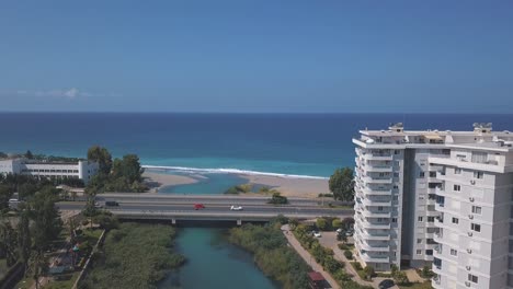
M 205 174 L 198 183 L 167 187 L 161 194 L 221 194 L 228 187 L 246 183 L 231 174 Z M 159 289 L 244 288 L 276 289 L 253 263 L 253 256 L 230 244 L 226 228 L 179 228 L 176 250 L 187 258 L 172 271 Z

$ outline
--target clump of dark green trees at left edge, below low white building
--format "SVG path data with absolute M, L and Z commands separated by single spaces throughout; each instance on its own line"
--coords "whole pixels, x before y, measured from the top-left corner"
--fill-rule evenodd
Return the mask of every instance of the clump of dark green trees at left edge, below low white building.
M 9 267 L 18 262 L 23 264 L 24 274 L 30 273 L 30 277 L 37 280 L 47 269 L 48 256 L 45 252 L 53 247 L 62 230 L 55 206 L 60 190 L 48 183 L 24 176 L 2 176 L 0 185 L 0 257 L 5 258 Z M 12 195 L 14 186 L 19 185 L 20 195 L 26 201 L 18 206 L 16 216 L 11 216 L 7 213 L 4 198 L 5 194 Z

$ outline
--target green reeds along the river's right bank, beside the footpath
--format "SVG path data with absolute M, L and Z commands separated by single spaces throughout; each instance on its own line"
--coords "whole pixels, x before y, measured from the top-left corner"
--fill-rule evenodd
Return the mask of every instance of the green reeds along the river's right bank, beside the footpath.
M 287 246 L 280 230 L 280 221 L 265 226 L 244 224 L 233 228 L 229 241 L 254 254 L 259 268 L 271 278 L 281 282 L 283 288 L 309 288 L 307 273 L 309 267 Z

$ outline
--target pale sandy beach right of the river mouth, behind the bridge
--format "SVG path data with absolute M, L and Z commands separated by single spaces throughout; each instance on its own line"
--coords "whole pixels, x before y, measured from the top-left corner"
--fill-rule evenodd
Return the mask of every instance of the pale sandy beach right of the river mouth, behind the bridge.
M 316 198 L 319 193 L 329 193 L 328 180 L 289 178 L 267 175 L 240 175 L 250 184 L 273 187 L 287 197 Z

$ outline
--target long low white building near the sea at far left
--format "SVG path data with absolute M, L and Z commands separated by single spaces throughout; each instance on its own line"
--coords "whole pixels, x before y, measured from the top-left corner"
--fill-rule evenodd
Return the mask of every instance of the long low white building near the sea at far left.
M 98 163 L 89 161 L 41 162 L 27 159 L 0 160 L 0 173 L 3 174 L 80 178 L 84 184 L 98 173 Z

